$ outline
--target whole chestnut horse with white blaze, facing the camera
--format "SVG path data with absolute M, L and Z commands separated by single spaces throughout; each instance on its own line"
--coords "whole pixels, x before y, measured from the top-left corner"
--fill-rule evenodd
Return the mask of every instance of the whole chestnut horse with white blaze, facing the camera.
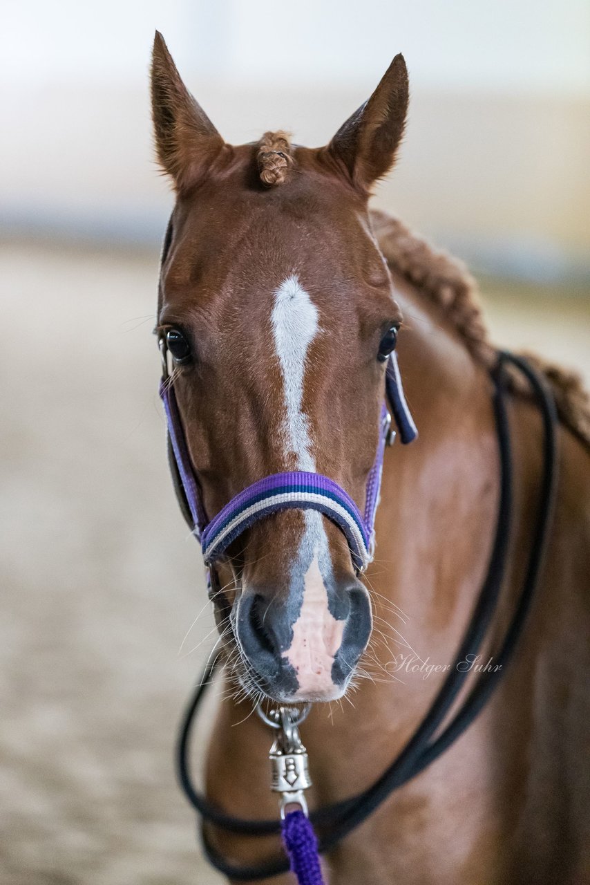
M 272 818 L 269 730 L 252 714 L 257 701 L 312 704 L 304 737 L 313 809 L 379 777 L 448 675 L 486 578 L 502 494 L 498 356 L 464 266 L 369 209 L 405 126 L 401 55 L 318 149 L 283 131 L 227 144 L 159 34 L 151 98 L 157 158 L 176 197 L 156 332 L 203 512 L 214 518 L 251 484 L 285 472 L 322 474 L 361 509 L 392 354 L 419 430 L 411 445 L 385 451 L 366 569 L 342 526 L 303 505 L 252 522 L 215 564 L 224 689 L 207 795 L 226 814 Z M 590 882 L 590 413 L 574 375 L 530 360 L 556 400 L 559 479 L 517 649 L 470 727 L 327 852 L 332 885 Z M 502 593 L 466 665 L 471 682 L 495 666 L 539 507 L 540 411 L 512 368 L 505 390 L 510 538 Z M 280 850 L 275 835 L 211 822 L 205 834 L 238 866 Z

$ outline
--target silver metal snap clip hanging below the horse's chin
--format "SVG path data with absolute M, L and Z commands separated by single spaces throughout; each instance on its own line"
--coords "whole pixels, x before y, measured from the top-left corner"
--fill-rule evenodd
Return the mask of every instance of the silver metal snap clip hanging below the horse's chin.
M 311 786 L 307 750 L 299 736 L 298 726 L 310 712 L 311 704 L 297 710 L 294 707 L 279 707 L 268 715 L 260 704 L 257 712 L 260 718 L 278 734 L 269 753 L 271 761 L 271 789 L 280 793 L 280 816 L 284 818 L 290 805 L 299 805 L 307 815 L 308 808 L 303 790 Z

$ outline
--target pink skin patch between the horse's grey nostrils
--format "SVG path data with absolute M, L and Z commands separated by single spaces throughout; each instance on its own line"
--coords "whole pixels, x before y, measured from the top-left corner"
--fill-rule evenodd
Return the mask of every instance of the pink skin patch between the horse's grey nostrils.
M 315 556 L 303 579 L 303 604 L 293 625 L 293 642 L 285 653 L 297 673 L 297 696 L 333 694 L 333 659 L 341 646 L 343 631 L 344 621 L 336 620 L 328 607 Z

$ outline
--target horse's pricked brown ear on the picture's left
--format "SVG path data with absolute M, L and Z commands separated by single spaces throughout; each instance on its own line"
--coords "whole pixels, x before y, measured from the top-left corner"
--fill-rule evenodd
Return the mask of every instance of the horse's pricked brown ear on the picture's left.
M 151 113 L 159 163 L 177 190 L 187 189 L 206 173 L 224 141 L 180 79 L 159 31 L 151 58 Z

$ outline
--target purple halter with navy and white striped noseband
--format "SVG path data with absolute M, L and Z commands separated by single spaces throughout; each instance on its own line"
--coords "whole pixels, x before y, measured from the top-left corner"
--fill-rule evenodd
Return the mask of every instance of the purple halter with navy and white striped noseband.
M 361 513 L 352 498 L 337 482 L 321 473 L 291 471 L 273 473 L 248 486 L 232 498 L 213 519 L 208 519 L 203 507 L 203 495 L 195 475 L 180 419 L 174 388 L 168 375 L 166 344 L 159 340 L 162 352 L 163 378 L 160 396 L 164 402 L 168 435 L 171 443 L 171 467 L 180 506 L 201 542 L 206 566 L 212 566 L 223 556 L 229 544 L 258 519 L 264 519 L 280 510 L 311 509 L 324 513 L 341 528 L 349 543 L 350 554 L 357 572 L 363 572 L 372 561 L 374 524 L 383 471 L 383 455 L 387 444 L 394 441 L 391 416 L 384 403 L 379 419 L 380 433 L 377 452 L 367 480 L 364 512 Z M 402 380 L 395 351 L 387 361 L 387 399 L 394 413 L 402 443 L 411 443 L 418 430 L 403 396 Z

